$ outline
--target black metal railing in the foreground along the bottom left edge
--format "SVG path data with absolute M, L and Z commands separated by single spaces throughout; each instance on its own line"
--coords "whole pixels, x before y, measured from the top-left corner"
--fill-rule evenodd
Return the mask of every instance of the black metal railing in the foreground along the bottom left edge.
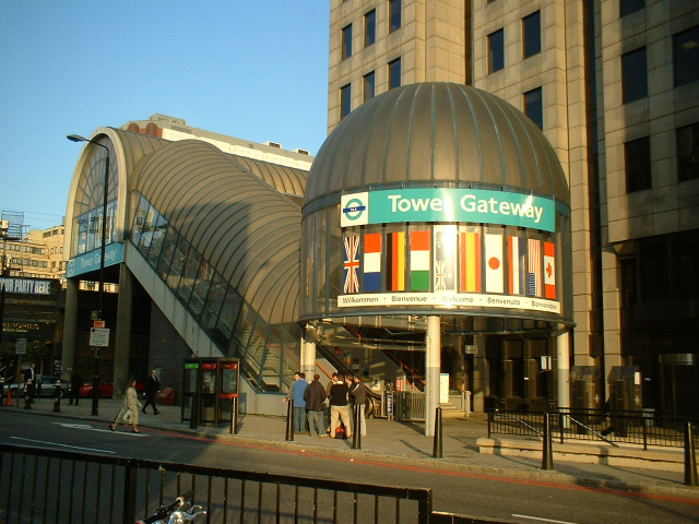
M 131 524 L 186 490 L 213 523 L 426 524 L 433 510 L 429 489 L 0 444 L 0 522 L 5 524 Z

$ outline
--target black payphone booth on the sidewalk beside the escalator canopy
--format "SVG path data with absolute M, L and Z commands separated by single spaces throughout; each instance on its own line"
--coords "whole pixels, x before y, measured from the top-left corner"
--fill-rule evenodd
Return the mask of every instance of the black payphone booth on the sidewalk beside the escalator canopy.
M 238 359 L 187 358 L 183 366 L 181 421 L 191 422 L 192 413 L 194 426 L 229 420 L 233 398 L 238 396 Z

